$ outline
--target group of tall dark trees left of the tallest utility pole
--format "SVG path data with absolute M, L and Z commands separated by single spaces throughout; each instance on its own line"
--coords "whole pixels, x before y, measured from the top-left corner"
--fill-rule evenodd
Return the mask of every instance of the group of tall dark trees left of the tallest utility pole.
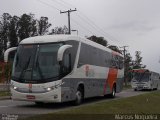
M 68 28 L 52 26 L 48 17 L 35 18 L 34 14 L 23 14 L 12 16 L 3 13 L 0 17 L 0 60 L 3 59 L 4 51 L 9 47 L 16 47 L 18 43 L 28 37 L 47 35 L 47 34 L 67 34 Z

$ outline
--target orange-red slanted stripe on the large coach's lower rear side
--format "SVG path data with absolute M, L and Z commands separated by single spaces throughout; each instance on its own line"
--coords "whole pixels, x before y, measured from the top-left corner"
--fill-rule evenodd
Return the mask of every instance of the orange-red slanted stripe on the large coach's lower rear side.
M 118 69 L 115 69 L 115 68 L 109 69 L 108 77 L 107 77 L 105 85 L 104 85 L 104 91 L 103 91 L 104 95 L 106 94 L 107 84 L 109 84 L 110 90 L 112 90 L 113 83 L 115 83 L 116 79 L 117 79 L 117 74 L 118 74 Z

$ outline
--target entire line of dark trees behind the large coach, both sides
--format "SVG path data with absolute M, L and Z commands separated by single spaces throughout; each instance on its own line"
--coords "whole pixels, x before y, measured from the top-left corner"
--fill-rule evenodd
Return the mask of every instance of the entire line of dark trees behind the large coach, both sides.
M 34 14 L 23 14 L 21 16 L 12 16 L 9 13 L 3 13 L 0 17 L 0 60 L 3 60 L 3 53 L 9 47 L 16 47 L 18 43 L 28 37 L 52 35 L 52 34 L 68 34 L 68 28 L 55 27 L 51 28 L 52 24 L 49 23 L 48 17 L 41 16 L 39 19 L 35 18 Z M 123 53 L 117 46 L 109 45 L 104 37 L 97 37 L 92 35 L 86 37 L 98 44 L 106 46 L 114 51 Z M 127 53 L 124 58 L 125 78 L 126 81 L 131 79 L 130 70 L 145 68 L 141 64 L 141 52 L 135 52 L 135 60 L 132 59 L 130 53 Z

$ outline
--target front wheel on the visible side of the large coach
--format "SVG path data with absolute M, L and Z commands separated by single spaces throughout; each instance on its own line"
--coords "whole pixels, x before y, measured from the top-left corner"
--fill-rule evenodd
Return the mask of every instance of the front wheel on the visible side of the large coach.
M 77 92 L 76 92 L 76 100 L 75 100 L 75 105 L 80 105 L 83 101 L 83 90 L 79 87 L 77 89 Z

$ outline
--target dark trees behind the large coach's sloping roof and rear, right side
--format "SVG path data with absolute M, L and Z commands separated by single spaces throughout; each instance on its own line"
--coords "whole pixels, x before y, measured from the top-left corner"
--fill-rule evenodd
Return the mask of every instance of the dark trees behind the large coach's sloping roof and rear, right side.
M 87 39 L 94 41 L 98 44 L 101 44 L 105 47 L 110 48 L 113 51 L 119 52 L 120 54 L 123 54 L 123 50 L 120 50 L 119 47 L 115 45 L 109 45 L 108 41 L 104 39 L 104 37 L 97 37 L 95 35 L 91 37 L 87 37 Z M 124 55 L 124 82 L 127 85 L 128 82 L 131 81 L 133 77 L 133 73 L 131 72 L 132 69 L 141 69 L 146 68 L 146 65 L 142 64 L 142 57 L 141 57 L 141 51 L 135 51 L 135 59 L 131 56 L 129 52 L 126 52 Z

